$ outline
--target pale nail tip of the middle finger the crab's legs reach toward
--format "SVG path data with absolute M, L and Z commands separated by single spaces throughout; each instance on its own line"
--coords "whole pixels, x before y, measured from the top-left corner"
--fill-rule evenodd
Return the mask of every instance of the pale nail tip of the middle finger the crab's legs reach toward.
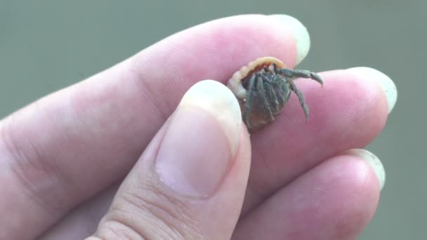
M 398 88 L 396 88 L 395 83 L 391 80 L 386 74 L 379 72 L 376 69 L 370 67 L 353 67 L 350 68 L 357 70 L 357 72 L 362 72 L 363 74 L 372 76 L 373 79 L 379 82 L 381 88 L 383 88 L 384 93 L 387 96 L 388 102 L 388 113 L 390 114 L 393 107 L 395 107 L 396 101 L 398 100 Z

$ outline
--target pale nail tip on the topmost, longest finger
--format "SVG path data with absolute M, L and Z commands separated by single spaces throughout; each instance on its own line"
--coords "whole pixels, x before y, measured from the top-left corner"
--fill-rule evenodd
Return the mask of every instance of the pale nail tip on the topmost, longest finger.
M 269 15 L 269 17 L 279 20 L 291 29 L 296 41 L 296 48 L 298 49 L 298 55 L 296 55 L 296 64 L 298 65 L 306 58 L 310 50 L 310 34 L 308 34 L 307 28 L 296 18 L 289 15 L 274 14 Z

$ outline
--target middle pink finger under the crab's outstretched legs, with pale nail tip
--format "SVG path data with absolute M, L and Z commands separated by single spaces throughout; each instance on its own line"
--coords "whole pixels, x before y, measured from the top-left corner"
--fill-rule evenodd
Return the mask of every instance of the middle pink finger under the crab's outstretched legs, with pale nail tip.
M 386 124 L 397 96 L 388 76 L 369 68 L 321 75 L 324 88 L 297 81 L 310 107 L 307 124 L 298 99 L 291 98 L 275 122 L 251 134 L 253 161 L 244 213 L 323 159 L 365 147 Z

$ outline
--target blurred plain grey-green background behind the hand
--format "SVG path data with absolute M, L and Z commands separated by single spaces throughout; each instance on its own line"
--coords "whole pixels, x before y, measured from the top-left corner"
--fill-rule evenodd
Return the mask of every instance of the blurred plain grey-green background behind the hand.
M 398 86 L 398 103 L 368 149 L 387 180 L 360 239 L 424 239 L 427 223 L 427 1 L 0 0 L 0 118 L 124 60 L 181 29 L 242 13 L 286 13 L 312 46 L 314 71 L 369 66 Z

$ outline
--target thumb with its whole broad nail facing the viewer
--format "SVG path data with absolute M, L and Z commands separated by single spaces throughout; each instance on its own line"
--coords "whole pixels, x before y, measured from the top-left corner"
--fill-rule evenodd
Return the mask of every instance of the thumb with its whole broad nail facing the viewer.
M 239 104 L 217 81 L 185 93 L 89 239 L 230 239 L 250 142 Z

